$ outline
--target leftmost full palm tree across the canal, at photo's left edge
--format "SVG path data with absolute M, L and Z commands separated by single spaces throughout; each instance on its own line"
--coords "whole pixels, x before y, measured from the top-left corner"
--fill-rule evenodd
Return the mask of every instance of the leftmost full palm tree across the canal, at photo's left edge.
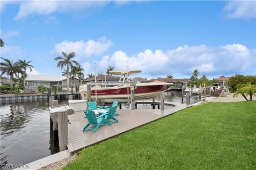
M 10 87 L 12 87 L 13 85 L 13 81 L 14 81 L 14 77 L 13 74 L 17 72 L 17 67 L 18 67 L 18 63 L 15 62 L 13 63 L 12 61 L 1 57 L 2 60 L 4 60 L 4 62 L 0 62 L 0 71 L 1 71 L 1 75 L 0 77 L 2 77 L 3 74 L 7 74 L 10 75 Z

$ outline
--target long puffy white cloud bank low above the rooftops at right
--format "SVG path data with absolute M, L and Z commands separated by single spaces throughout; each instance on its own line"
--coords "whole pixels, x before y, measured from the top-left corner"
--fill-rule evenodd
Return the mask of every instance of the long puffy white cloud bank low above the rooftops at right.
M 143 75 L 191 75 L 198 69 L 200 75 L 246 74 L 256 67 L 256 49 L 249 49 L 241 44 L 210 47 L 187 46 L 170 49 L 163 52 L 161 49 L 127 56 L 123 51 L 117 51 L 111 56 L 103 56 L 97 62 L 97 69 L 104 72 L 109 65 L 115 70 L 126 70 L 126 61 L 131 70 L 142 70 Z M 142 76 L 143 76 L 142 75 Z

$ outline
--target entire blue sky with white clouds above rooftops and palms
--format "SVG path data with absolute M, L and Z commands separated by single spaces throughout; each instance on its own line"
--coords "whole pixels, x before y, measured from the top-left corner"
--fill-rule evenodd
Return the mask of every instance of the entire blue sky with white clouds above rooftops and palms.
M 75 52 L 87 73 L 141 77 L 256 74 L 255 1 L 1 1 L 1 57 L 30 74 L 61 75 L 54 57 Z

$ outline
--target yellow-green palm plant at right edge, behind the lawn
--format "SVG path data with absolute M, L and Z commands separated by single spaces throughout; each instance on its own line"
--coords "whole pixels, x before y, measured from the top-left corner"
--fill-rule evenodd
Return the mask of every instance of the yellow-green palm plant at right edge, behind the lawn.
M 233 97 L 237 97 L 238 94 L 241 94 L 245 100 L 247 95 L 250 96 L 250 100 L 252 101 L 252 96 L 256 96 L 256 85 L 247 83 L 247 84 L 237 84 L 237 90 L 234 93 Z

